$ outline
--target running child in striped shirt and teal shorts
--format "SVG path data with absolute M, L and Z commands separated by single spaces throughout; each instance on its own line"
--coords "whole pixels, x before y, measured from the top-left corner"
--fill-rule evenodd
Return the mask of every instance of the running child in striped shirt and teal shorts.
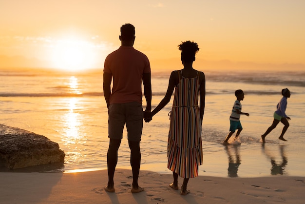
M 232 113 L 230 115 L 230 132 L 224 141 L 225 145 L 229 144 L 228 141 L 230 137 L 234 134 L 235 130 L 238 129 L 234 139 L 238 138 L 240 132 L 243 130 L 242 124 L 240 123 L 239 120 L 240 115 L 249 116 L 248 113 L 242 112 L 242 104 L 240 103 L 240 101 L 243 101 L 245 98 L 245 94 L 243 90 L 241 89 L 236 90 L 235 96 L 236 96 L 236 101 L 234 102 Z

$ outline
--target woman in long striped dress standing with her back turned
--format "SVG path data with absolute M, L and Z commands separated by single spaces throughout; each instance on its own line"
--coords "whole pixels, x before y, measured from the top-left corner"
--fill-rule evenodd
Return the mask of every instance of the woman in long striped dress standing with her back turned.
M 172 170 L 173 183 L 170 187 L 179 189 L 178 176 L 184 178 L 181 195 L 190 191 L 187 184 L 190 178 L 198 176 L 198 165 L 202 165 L 201 125 L 205 108 L 205 75 L 193 69 L 198 44 L 191 41 L 178 45 L 181 50 L 182 70 L 173 71 L 164 99 L 150 113 L 145 114 L 149 122 L 171 100 L 175 89 L 172 111 L 170 113 L 170 131 L 168 138 L 168 168 Z M 198 98 L 200 106 L 198 107 Z

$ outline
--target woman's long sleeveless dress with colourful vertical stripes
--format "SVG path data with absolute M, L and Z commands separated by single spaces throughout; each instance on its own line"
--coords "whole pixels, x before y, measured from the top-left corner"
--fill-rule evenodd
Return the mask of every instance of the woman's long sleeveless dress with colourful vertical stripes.
M 192 79 L 182 76 L 175 87 L 167 150 L 168 168 L 182 178 L 197 177 L 203 160 L 198 95 L 199 72 Z

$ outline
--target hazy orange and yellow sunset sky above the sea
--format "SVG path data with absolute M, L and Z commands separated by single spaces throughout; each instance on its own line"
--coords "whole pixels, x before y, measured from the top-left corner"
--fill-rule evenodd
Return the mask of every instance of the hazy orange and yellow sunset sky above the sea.
M 152 70 L 180 69 L 181 41 L 201 69 L 305 69 L 305 0 L 0 0 L 0 68 L 103 68 L 135 26 Z

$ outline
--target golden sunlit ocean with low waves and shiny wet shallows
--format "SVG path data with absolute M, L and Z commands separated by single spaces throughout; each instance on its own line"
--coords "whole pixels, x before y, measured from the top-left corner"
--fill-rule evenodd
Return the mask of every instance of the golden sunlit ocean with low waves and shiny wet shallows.
M 305 71 L 204 71 L 206 107 L 202 125 L 203 165 L 199 175 L 220 177 L 305 176 Z M 152 108 L 164 97 L 170 71 L 152 70 Z M 0 69 L 0 123 L 44 135 L 65 152 L 65 163 L 11 171 L 89 171 L 107 168 L 108 110 L 103 97 L 103 72 L 86 73 L 44 69 Z M 286 114 L 291 118 L 261 143 L 273 121 L 281 90 L 288 88 Z M 224 146 L 229 115 L 243 89 L 241 145 Z M 173 99 L 173 97 L 172 97 Z M 143 98 L 145 108 L 145 99 Z M 151 122 L 144 123 L 141 169 L 171 173 L 167 169 L 168 113 L 172 100 Z M 124 130 L 117 167 L 130 168 L 130 150 Z M 0 165 L 0 171 L 9 171 Z

